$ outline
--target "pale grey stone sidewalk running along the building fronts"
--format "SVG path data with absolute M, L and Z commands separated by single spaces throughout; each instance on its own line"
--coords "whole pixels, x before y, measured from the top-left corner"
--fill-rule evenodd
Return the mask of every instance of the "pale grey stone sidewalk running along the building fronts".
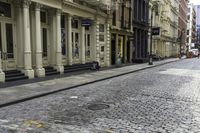
M 23 102 L 46 96 L 56 92 L 64 91 L 67 89 L 75 88 L 78 86 L 106 80 L 109 78 L 117 77 L 133 73 L 136 71 L 164 65 L 167 63 L 179 61 L 178 58 L 166 59 L 162 61 L 154 62 L 154 65 L 149 66 L 148 63 L 130 65 L 120 68 L 113 68 L 109 70 L 97 71 L 92 73 L 85 73 L 80 75 L 72 75 L 69 77 L 55 78 L 53 80 L 47 80 L 42 82 L 36 82 L 25 85 L 18 85 L 13 87 L 0 89 L 0 107 L 5 107 L 15 103 Z

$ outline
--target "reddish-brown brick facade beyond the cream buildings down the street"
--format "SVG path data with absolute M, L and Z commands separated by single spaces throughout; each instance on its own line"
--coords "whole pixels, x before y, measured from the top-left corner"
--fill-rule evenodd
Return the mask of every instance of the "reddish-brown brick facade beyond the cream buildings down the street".
M 180 37 L 182 52 L 187 50 L 186 46 L 186 27 L 187 27 L 187 12 L 188 12 L 188 0 L 181 0 L 179 3 L 179 24 L 178 24 L 178 36 Z

